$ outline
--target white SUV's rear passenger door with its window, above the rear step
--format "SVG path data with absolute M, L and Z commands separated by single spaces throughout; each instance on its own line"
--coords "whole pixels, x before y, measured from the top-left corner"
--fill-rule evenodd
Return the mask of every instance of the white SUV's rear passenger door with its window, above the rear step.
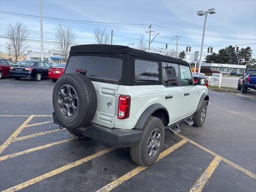
M 180 119 L 183 90 L 180 87 L 178 64 L 162 62 L 163 104 L 169 112 L 170 123 Z

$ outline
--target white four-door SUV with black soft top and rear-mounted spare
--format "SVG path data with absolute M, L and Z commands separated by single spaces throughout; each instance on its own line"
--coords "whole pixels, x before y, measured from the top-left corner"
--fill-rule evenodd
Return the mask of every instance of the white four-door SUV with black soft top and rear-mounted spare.
M 202 126 L 209 101 L 206 79 L 194 84 L 183 60 L 118 45 L 73 46 L 54 86 L 53 118 L 71 134 L 115 148 L 132 160 L 158 158 L 164 129 L 182 121 Z

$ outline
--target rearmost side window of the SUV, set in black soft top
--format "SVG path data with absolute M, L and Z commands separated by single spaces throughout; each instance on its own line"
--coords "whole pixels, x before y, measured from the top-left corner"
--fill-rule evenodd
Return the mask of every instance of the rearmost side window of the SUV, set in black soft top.
M 136 82 L 159 82 L 158 62 L 135 60 Z

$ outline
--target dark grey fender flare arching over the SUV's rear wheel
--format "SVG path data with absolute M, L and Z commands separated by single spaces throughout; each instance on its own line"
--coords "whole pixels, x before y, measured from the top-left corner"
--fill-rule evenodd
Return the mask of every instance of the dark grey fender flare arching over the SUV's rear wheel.
M 141 114 L 136 125 L 134 126 L 134 129 L 142 129 L 144 127 L 144 125 L 146 124 L 148 118 L 151 116 L 151 114 L 154 113 L 158 109 L 164 109 L 167 112 L 168 118 L 169 118 L 168 110 L 164 106 L 162 106 L 161 104 L 153 104 L 153 105 L 149 106 L 148 108 L 146 108 L 146 110 Z

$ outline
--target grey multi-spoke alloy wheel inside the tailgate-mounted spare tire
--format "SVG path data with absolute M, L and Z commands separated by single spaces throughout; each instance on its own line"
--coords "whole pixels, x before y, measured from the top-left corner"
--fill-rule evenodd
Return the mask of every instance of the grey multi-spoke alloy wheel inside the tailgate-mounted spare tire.
M 58 96 L 60 111 L 67 117 L 76 114 L 78 109 L 78 96 L 76 90 L 71 85 L 64 85 L 60 88 Z

